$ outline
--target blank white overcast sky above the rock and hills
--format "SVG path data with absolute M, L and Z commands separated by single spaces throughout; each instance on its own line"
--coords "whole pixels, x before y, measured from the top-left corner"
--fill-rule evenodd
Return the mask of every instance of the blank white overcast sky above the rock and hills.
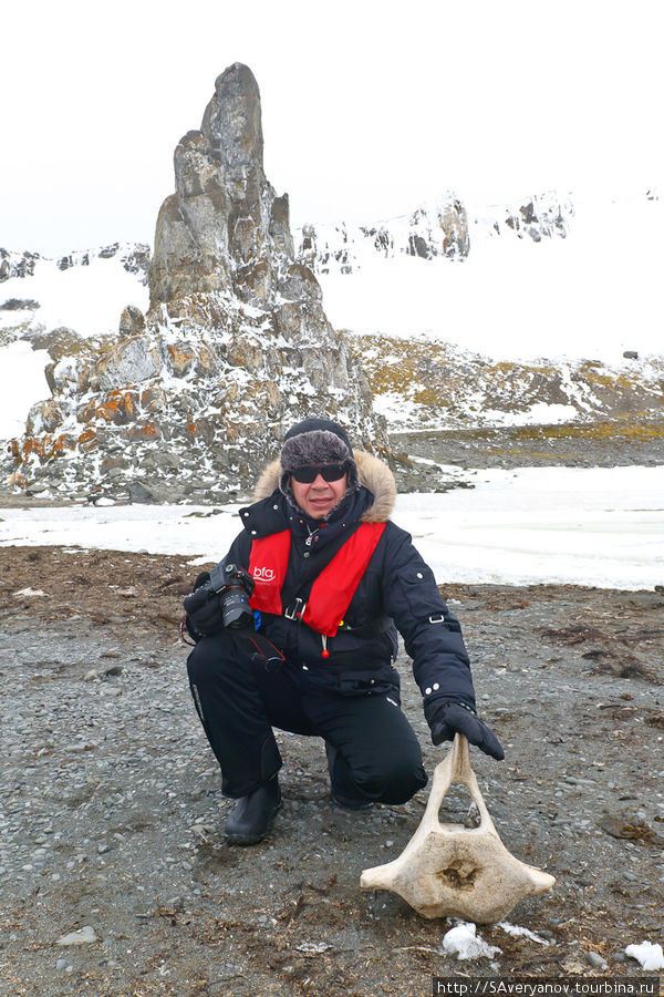
M 247 63 L 293 224 L 663 186 L 661 0 L 4 0 L 0 246 L 152 243 L 173 150 Z

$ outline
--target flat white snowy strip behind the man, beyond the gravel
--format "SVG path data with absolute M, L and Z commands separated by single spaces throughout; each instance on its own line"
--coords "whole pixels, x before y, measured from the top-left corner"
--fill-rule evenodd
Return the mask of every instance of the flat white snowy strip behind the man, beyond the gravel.
M 560 583 L 640 589 L 664 584 L 664 466 L 464 472 L 474 487 L 397 497 L 438 582 Z M 238 505 L 0 510 L 0 546 L 64 545 L 221 558 Z

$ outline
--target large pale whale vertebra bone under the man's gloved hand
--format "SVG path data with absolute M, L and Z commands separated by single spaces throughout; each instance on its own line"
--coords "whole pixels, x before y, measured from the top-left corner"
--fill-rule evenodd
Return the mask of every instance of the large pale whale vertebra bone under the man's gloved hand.
M 468 788 L 481 818 L 479 826 L 440 823 L 440 804 L 455 782 Z M 525 896 L 544 893 L 554 882 L 515 859 L 500 841 L 470 768 L 468 741 L 457 734 L 436 765 L 417 831 L 398 859 L 364 870 L 360 885 L 398 893 L 424 917 L 449 915 L 491 924 L 507 917 Z

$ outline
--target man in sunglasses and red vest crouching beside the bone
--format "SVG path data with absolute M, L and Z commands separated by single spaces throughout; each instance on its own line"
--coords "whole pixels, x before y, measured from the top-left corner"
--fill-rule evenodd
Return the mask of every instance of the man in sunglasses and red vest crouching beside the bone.
M 459 624 L 390 520 L 395 494 L 382 461 L 353 451 L 335 422 L 307 419 L 240 511 L 243 530 L 214 573 L 230 586 L 218 595 L 199 576 L 185 599 L 191 693 L 222 791 L 238 801 L 230 844 L 261 841 L 281 805 L 272 728 L 324 739 L 339 806 L 404 803 L 426 784 L 400 707 L 397 630 L 434 744 L 460 731 L 504 758 L 476 715 Z

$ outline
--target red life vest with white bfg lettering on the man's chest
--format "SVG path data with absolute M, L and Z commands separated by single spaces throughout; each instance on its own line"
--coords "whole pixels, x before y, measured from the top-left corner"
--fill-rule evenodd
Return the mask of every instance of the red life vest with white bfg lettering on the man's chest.
M 385 525 L 363 523 L 315 578 L 300 617 L 312 630 L 334 637 Z M 249 599 L 252 609 L 282 615 L 281 589 L 286 580 L 290 545 L 290 530 L 252 542 L 249 558 L 249 574 L 256 582 L 253 595 Z

